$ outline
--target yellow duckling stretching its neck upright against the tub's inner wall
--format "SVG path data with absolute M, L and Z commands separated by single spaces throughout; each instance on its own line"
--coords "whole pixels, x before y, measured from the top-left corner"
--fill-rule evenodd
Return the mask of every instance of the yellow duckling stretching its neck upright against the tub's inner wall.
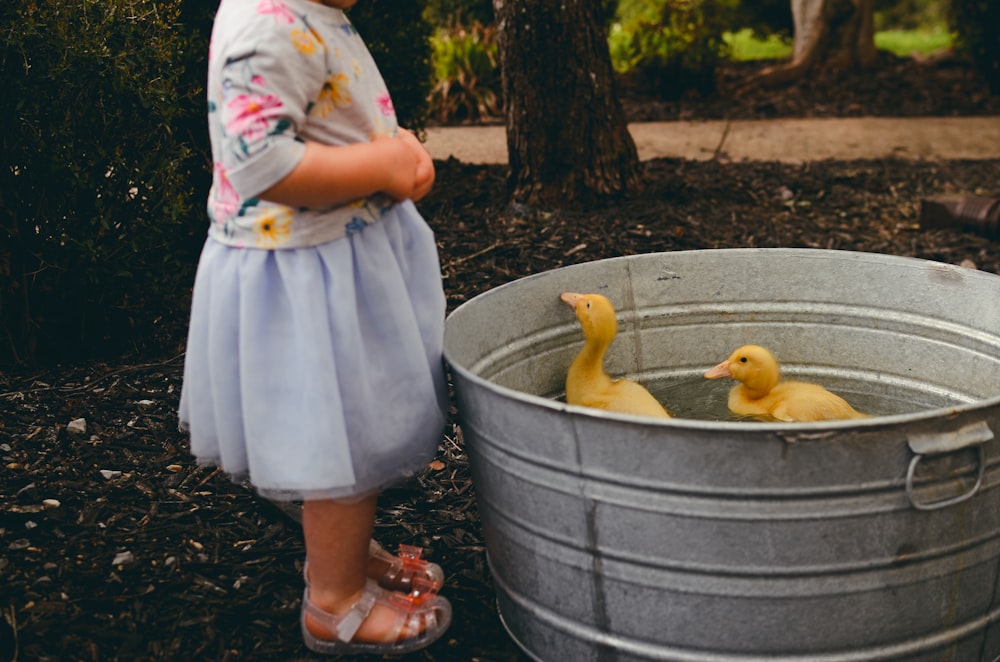
M 600 294 L 563 292 L 559 297 L 576 311 L 583 328 L 583 349 L 566 375 L 566 402 L 607 411 L 670 418 L 656 398 L 641 384 L 612 379 L 604 371 L 604 354 L 618 333 L 615 309 Z

